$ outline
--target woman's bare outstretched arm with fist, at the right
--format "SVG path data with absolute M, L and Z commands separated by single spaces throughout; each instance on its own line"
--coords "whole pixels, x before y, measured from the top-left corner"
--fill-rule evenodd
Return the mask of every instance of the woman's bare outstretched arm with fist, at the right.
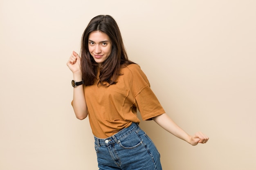
M 198 143 L 205 144 L 209 139 L 209 137 L 204 135 L 202 132 L 197 132 L 193 136 L 188 135 L 184 130 L 182 130 L 182 128 L 175 124 L 175 122 L 166 113 L 153 117 L 153 120 L 171 134 L 193 146 Z

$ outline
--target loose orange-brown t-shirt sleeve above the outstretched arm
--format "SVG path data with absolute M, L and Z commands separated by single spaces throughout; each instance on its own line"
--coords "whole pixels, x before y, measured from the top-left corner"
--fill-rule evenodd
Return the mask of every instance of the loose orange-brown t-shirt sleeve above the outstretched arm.
M 148 78 L 138 65 L 132 66 L 132 92 L 135 97 L 135 106 L 143 120 L 152 120 L 153 117 L 165 113 L 157 97 L 150 88 Z

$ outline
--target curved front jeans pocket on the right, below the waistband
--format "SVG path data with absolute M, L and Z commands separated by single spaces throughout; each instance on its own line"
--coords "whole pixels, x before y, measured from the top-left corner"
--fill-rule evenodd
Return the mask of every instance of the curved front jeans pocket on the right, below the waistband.
M 141 144 L 142 144 L 142 141 L 136 132 L 132 132 L 125 138 L 122 138 L 119 140 L 119 145 L 124 149 L 137 148 Z

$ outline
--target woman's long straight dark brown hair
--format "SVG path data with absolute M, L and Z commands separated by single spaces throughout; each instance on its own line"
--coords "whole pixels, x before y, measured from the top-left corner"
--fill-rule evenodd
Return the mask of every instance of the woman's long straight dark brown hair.
M 110 15 L 98 15 L 89 22 L 83 32 L 81 40 L 81 71 L 83 84 L 86 86 L 94 84 L 97 81 L 98 64 L 90 55 L 88 49 L 88 38 L 91 32 L 101 31 L 106 33 L 112 42 L 112 51 L 110 56 L 101 64 L 99 83 L 108 82 L 108 86 L 115 84 L 115 80 L 120 74 L 120 68 L 132 64 L 128 60 L 121 32 L 114 18 Z

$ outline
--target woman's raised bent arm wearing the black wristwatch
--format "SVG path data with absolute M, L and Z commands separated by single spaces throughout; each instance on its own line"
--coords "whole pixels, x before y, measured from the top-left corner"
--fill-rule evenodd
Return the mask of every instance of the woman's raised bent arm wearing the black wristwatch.
M 73 51 L 69 60 L 67 61 L 67 66 L 73 73 L 73 79 L 76 82 L 82 81 L 82 72 L 81 72 L 81 58 L 80 56 Z M 83 91 L 83 86 L 74 87 L 73 91 L 73 102 L 72 106 L 77 119 L 85 119 L 88 115 L 87 106 L 85 102 L 85 96 Z

